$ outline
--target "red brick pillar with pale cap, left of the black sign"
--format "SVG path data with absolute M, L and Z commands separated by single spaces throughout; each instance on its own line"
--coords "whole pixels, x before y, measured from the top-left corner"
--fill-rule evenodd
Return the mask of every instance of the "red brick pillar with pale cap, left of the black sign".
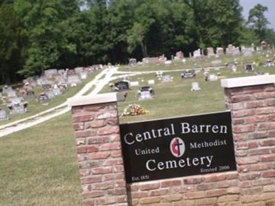
M 117 96 L 71 98 L 84 205 L 128 205 Z

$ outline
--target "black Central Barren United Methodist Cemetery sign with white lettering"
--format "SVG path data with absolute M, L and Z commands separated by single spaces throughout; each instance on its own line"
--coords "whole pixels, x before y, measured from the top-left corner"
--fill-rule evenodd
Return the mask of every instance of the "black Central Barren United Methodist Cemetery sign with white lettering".
M 236 170 L 230 112 L 120 124 L 126 182 Z

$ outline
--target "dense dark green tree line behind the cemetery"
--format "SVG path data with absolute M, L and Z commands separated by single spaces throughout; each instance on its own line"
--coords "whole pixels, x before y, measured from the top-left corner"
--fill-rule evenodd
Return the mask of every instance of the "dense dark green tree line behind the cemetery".
M 243 19 L 239 0 L 0 0 L 0 84 L 50 68 L 275 45 L 267 9 Z

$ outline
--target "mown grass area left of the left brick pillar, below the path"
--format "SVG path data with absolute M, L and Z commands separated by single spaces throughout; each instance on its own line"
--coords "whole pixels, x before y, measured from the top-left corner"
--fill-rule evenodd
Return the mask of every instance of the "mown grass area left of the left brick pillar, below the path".
M 0 205 L 81 205 L 71 114 L 0 139 Z

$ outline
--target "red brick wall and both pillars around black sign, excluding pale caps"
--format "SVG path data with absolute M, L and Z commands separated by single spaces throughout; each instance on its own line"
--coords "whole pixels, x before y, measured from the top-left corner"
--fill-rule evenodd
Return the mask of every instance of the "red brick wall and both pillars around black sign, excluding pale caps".
M 73 106 L 85 205 L 275 205 L 274 84 L 225 88 L 236 172 L 126 184 L 116 103 Z

